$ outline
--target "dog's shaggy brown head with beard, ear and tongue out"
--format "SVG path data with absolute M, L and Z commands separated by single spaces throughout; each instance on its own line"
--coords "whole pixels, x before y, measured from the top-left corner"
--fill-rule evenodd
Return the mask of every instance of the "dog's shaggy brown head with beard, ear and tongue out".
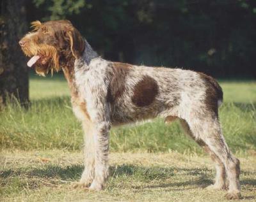
M 24 54 L 31 59 L 28 66 L 35 66 L 38 75 L 59 71 L 68 61 L 81 57 L 84 40 L 68 20 L 31 23 L 32 32 L 20 41 Z

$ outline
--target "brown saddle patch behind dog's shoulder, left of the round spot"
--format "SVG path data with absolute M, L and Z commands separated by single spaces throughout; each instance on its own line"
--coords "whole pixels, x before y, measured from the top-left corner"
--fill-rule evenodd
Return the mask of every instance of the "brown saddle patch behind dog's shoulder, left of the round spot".
M 107 101 L 113 103 L 124 94 L 125 91 L 125 78 L 131 70 L 131 64 L 121 62 L 113 62 L 111 73 L 111 82 L 107 94 Z

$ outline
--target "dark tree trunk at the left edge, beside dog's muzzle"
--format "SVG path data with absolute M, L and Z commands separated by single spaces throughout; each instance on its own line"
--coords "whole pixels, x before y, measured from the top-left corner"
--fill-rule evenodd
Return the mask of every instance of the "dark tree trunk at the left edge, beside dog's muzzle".
M 19 47 L 26 32 L 26 0 L 0 0 L 0 108 L 7 97 L 28 104 L 28 70 Z

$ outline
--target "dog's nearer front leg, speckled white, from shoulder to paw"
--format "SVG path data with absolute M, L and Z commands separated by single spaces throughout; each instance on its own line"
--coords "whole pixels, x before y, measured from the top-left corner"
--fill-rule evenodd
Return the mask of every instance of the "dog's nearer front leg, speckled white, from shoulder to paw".
M 108 150 L 109 150 L 109 130 L 110 106 L 106 100 L 108 94 L 108 85 L 100 73 L 94 71 L 90 73 L 88 82 L 84 90 L 84 99 L 88 117 L 92 127 L 94 154 L 94 178 L 89 189 L 100 191 L 104 182 L 108 178 Z M 86 77 L 87 78 L 87 77 Z M 90 80 L 92 79 L 92 80 Z M 83 91 L 81 90 L 81 91 Z

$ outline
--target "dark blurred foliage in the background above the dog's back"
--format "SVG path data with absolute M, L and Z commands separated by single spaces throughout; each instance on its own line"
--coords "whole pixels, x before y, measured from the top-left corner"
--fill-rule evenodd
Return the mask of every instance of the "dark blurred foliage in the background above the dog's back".
M 28 19 L 67 18 L 106 59 L 255 76 L 256 1 L 33 0 Z

